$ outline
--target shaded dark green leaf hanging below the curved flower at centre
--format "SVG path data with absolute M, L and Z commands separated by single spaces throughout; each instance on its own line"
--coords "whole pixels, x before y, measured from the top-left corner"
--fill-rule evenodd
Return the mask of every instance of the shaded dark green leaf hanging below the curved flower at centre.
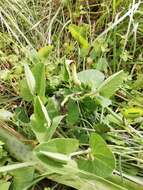
M 79 108 L 78 105 L 75 101 L 73 100 L 69 100 L 68 105 L 67 105 L 67 109 L 68 109 L 68 114 L 67 114 L 67 122 L 70 125 L 74 125 L 75 123 L 77 123 L 79 121 Z

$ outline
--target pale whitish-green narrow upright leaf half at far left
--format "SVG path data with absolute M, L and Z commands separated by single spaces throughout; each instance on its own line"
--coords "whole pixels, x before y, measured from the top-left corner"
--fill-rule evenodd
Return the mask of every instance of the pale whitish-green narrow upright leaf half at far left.
M 36 81 L 33 76 L 33 73 L 31 72 L 29 66 L 27 64 L 24 64 L 24 70 L 25 70 L 25 76 L 26 76 L 26 81 L 29 87 L 29 90 L 32 95 L 35 94 L 35 89 L 36 89 Z

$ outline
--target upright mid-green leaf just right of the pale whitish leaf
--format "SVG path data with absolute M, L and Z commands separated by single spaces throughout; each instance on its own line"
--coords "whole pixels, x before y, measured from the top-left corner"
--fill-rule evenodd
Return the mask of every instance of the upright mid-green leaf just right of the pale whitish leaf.
M 43 98 L 45 96 L 45 66 L 42 62 L 34 66 L 33 74 L 36 82 L 36 94 Z

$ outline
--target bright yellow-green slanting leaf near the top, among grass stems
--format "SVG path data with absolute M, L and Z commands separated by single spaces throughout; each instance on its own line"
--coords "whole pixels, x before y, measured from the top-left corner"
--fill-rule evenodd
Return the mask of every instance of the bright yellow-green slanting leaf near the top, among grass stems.
M 72 37 L 83 47 L 83 48 L 89 48 L 89 43 L 88 41 L 83 37 L 81 34 L 79 27 L 76 26 L 75 24 L 70 24 L 69 25 L 69 31 L 72 35 Z

